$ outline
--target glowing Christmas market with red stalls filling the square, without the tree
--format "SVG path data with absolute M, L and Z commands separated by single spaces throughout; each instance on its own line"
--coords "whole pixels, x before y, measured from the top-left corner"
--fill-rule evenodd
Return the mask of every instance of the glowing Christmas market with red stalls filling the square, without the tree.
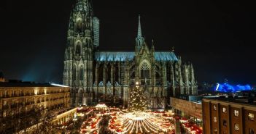
M 101 107 L 101 106 L 100 106 Z M 104 106 L 105 107 L 105 106 Z M 82 108 L 78 109 L 82 111 Z M 129 133 L 168 133 L 174 134 L 174 120 L 179 119 L 182 123 L 182 127 L 187 133 L 202 134 L 203 130 L 195 123 L 190 122 L 185 117 L 178 117 L 174 115 L 172 111 L 166 112 L 141 112 L 134 111 L 128 112 L 127 109 L 121 111 L 118 108 L 109 107 L 108 110 L 96 108 L 85 109 L 86 112 L 93 110 L 93 116 L 89 117 L 82 123 L 80 133 L 82 134 L 97 134 L 100 130 L 100 122 L 103 119 L 103 115 L 111 117 L 109 120 L 108 130 L 117 134 L 129 134 Z M 105 116 L 105 117 L 106 117 Z

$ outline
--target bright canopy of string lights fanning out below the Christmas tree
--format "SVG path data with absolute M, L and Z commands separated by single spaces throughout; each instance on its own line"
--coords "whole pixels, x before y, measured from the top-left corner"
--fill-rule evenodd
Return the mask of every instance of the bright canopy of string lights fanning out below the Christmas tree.
M 152 112 L 119 112 L 111 116 L 109 130 L 112 133 L 167 133 L 174 130 L 170 121 Z

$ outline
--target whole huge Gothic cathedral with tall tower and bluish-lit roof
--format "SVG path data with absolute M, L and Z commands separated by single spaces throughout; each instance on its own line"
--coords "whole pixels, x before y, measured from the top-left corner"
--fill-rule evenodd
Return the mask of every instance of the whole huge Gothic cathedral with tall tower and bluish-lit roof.
M 144 90 L 150 109 L 164 109 L 170 96 L 195 95 L 197 84 L 192 64 L 182 64 L 171 51 L 156 51 L 141 31 L 134 51 L 101 51 L 99 20 L 90 0 L 77 0 L 69 20 L 64 57 L 63 84 L 71 87 L 71 104 L 98 102 L 128 106 L 135 84 Z

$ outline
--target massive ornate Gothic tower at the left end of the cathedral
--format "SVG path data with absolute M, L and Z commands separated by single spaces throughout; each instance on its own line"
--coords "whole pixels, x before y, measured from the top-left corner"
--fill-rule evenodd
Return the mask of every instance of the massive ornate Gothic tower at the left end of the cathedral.
M 94 22 L 93 22 L 94 21 Z M 98 19 L 89 0 L 77 0 L 71 11 L 64 56 L 63 84 L 71 87 L 71 104 L 88 105 L 93 88 L 93 51 L 98 46 Z M 96 34 L 94 34 L 96 33 Z

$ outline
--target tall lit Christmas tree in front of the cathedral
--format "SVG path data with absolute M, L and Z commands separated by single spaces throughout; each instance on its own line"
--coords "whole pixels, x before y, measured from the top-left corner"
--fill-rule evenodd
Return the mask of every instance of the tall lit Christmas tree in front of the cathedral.
M 144 112 L 147 109 L 147 100 L 143 95 L 143 90 L 139 88 L 139 83 L 136 82 L 136 87 L 133 88 L 129 98 L 130 112 Z

